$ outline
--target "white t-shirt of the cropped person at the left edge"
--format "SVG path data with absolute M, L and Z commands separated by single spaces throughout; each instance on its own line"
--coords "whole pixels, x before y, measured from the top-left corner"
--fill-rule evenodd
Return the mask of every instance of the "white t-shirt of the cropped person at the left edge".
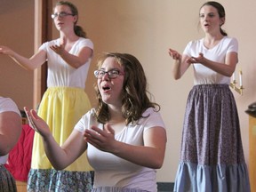
M 10 98 L 0 97 L 0 113 L 7 111 L 13 111 L 20 115 L 20 110 L 13 100 Z M 8 155 L 0 156 L 0 164 L 5 164 L 7 162 Z

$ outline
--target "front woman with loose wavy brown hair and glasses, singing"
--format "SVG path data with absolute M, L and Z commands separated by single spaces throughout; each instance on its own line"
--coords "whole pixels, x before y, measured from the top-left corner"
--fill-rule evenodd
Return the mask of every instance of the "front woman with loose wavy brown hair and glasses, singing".
M 166 132 L 160 106 L 148 98 L 140 61 L 131 54 L 110 52 L 98 66 L 94 72 L 98 107 L 80 119 L 61 147 L 36 111 L 25 111 L 44 138 L 46 155 L 55 169 L 64 169 L 87 149 L 95 172 L 92 192 L 156 192 L 156 169 L 164 161 Z

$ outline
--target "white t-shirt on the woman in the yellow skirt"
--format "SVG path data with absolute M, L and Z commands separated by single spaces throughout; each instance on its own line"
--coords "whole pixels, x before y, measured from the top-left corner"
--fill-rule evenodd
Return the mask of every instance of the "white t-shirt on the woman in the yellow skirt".
M 73 68 L 68 65 L 68 63 L 63 60 L 59 54 L 52 51 L 50 46 L 53 44 L 60 45 L 60 38 L 46 42 L 39 48 L 39 50 L 44 50 L 44 52 L 47 53 L 47 86 L 68 86 L 84 89 L 92 58 L 87 60 L 87 62 L 84 63 L 84 65 L 82 65 L 80 68 Z M 92 41 L 90 39 L 80 37 L 72 46 L 69 53 L 77 55 L 83 47 L 89 47 L 93 51 Z

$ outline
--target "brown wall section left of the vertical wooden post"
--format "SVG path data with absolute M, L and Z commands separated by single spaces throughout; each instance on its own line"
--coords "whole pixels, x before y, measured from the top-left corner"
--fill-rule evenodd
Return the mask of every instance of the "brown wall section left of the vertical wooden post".
M 0 45 L 9 46 L 21 55 L 34 52 L 34 0 L 1 0 Z M 19 108 L 33 105 L 33 72 L 20 68 L 0 54 L 0 95 L 11 97 Z

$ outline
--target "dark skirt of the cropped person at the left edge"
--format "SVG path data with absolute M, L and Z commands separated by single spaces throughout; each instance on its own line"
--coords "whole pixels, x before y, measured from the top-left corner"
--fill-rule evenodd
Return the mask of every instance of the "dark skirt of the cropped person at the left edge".
M 4 167 L 4 164 L 0 164 L 0 191 L 3 192 L 16 192 L 16 182 L 12 177 L 12 174 Z

